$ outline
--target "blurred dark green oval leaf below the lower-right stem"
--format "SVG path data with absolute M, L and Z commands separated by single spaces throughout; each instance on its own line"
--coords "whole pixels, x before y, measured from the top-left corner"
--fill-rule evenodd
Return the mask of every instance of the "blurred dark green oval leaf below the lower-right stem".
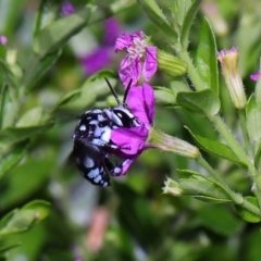
M 197 220 L 203 226 L 223 236 L 233 236 L 244 226 L 244 222 L 236 219 L 229 209 L 216 204 L 200 209 L 197 212 Z

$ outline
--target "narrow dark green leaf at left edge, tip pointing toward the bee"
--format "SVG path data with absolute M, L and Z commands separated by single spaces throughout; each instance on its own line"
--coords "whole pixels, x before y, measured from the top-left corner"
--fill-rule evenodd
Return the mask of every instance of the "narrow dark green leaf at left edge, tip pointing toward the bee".
M 49 129 L 53 123 L 46 123 L 29 127 L 8 127 L 0 132 L 0 150 L 5 146 L 30 138 L 33 135 L 40 134 Z

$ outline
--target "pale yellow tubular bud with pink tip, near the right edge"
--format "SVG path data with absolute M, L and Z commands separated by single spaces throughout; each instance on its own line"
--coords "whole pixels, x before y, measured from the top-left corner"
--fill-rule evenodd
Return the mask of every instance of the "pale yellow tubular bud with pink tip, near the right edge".
M 239 110 L 246 108 L 247 99 L 238 67 L 237 49 L 233 47 L 231 50 L 222 50 L 217 52 L 217 59 L 234 107 Z

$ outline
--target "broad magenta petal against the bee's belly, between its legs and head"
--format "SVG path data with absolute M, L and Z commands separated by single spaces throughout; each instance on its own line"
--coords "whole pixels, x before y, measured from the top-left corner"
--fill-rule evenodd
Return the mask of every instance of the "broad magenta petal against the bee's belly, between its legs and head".
M 123 154 L 135 156 L 144 150 L 149 130 L 145 126 L 115 128 L 112 129 L 111 140 L 122 148 L 121 152 Z

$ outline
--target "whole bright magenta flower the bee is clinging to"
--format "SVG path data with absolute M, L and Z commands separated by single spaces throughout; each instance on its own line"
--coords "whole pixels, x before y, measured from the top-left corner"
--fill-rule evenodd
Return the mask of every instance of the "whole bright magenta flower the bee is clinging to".
M 139 120 L 140 126 L 112 129 L 112 142 L 121 148 L 129 148 L 128 150 L 122 149 L 115 152 L 117 157 L 125 160 L 119 176 L 124 175 L 134 160 L 145 149 L 150 148 L 146 141 L 149 129 L 153 125 L 154 102 L 154 91 L 150 85 L 144 83 L 141 87 L 132 86 L 127 97 L 127 105 Z

